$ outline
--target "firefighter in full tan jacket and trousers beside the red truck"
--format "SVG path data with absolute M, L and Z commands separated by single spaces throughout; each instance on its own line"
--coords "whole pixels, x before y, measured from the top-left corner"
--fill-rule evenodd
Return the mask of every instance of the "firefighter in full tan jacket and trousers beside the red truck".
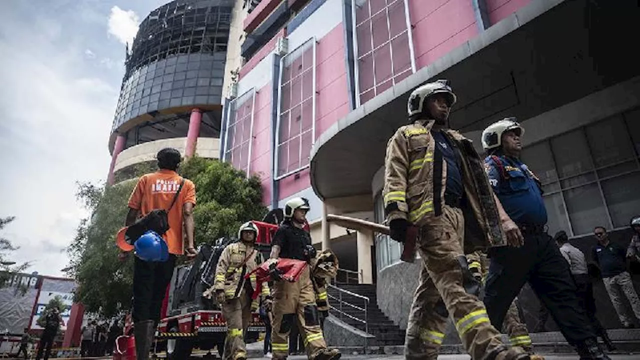
M 249 326 L 251 313 L 258 308 L 260 299 L 252 300 L 256 277 L 252 274 L 249 281 L 244 275 L 252 272 L 262 263 L 262 255 L 255 248 L 258 238 L 258 227 L 253 222 L 244 223 L 238 230 L 240 241 L 225 247 L 220 254 L 213 286 L 203 296 L 211 299 L 215 292 L 216 300 L 222 307 L 222 315 L 227 321 L 227 338 L 225 338 L 224 360 L 246 359 L 244 332 Z M 271 306 L 269 285 L 262 283 L 261 295 L 266 307 Z

